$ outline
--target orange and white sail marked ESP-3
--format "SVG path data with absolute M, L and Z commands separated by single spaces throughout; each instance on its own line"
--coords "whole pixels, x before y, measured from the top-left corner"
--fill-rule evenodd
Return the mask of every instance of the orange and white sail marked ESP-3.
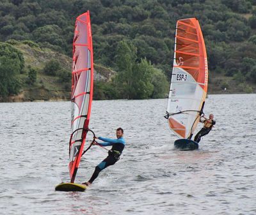
M 189 138 L 195 131 L 207 83 L 207 55 L 199 22 L 196 18 L 178 20 L 166 118 L 179 138 Z

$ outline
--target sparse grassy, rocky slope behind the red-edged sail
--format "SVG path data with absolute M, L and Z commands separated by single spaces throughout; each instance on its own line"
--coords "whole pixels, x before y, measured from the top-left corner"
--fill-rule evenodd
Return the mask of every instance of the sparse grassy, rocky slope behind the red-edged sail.
M 47 62 L 55 59 L 61 64 L 61 67 L 70 72 L 72 59 L 60 52 L 52 51 L 48 48 L 40 48 L 34 42 L 15 40 L 8 41 L 16 49 L 22 52 L 25 61 L 24 73 L 19 74 L 21 90 L 19 95 L 12 95 L 6 101 L 33 101 L 33 100 L 69 100 L 70 99 L 70 80 L 67 83 L 60 81 L 58 76 L 48 76 L 44 72 Z M 35 68 L 37 78 L 34 84 L 28 84 L 28 68 Z M 115 74 L 113 70 L 95 65 L 95 81 L 111 81 L 111 77 Z

